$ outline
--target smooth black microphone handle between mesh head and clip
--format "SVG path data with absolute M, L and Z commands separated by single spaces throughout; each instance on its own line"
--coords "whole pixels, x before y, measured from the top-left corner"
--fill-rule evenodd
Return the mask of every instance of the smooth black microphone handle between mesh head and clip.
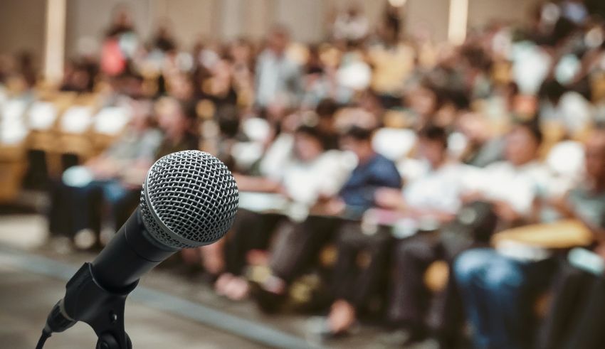
M 140 207 L 137 207 L 91 263 L 93 276 L 104 289 L 120 291 L 135 283 L 174 252 L 177 250 L 162 248 L 149 235 L 141 218 Z

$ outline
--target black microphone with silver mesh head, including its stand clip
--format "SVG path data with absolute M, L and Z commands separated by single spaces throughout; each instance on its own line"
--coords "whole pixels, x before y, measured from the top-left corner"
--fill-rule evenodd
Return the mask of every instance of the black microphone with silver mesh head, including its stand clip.
M 221 239 L 237 209 L 236 181 L 214 156 L 179 151 L 156 161 L 147 172 L 139 207 L 93 262 L 68 281 L 37 348 L 51 333 L 78 321 L 93 327 L 98 348 L 131 348 L 124 302 L 140 277 L 180 249 Z

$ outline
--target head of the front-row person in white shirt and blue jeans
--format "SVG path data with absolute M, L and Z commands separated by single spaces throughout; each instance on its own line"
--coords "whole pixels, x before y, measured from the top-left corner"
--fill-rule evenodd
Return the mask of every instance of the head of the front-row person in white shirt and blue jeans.
M 542 144 L 542 131 L 535 122 L 515 124 L 506 136 L 505 159 L 522 166 L 537 158 Z

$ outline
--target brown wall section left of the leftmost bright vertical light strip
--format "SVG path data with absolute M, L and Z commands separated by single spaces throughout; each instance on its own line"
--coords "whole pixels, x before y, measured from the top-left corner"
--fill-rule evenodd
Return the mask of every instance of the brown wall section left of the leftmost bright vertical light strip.
M 0 0 L 0 53 L 44 52 L 45 0 Z

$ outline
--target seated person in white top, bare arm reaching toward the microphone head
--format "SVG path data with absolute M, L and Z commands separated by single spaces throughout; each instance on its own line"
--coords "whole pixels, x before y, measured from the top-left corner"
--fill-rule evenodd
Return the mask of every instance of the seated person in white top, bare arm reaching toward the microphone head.
M 268 176 L 236 175 L 240 193 L 256 191 L 279 193 L 302 210 L 320 197 L 332 196 L 340 189 L 348 173 L 339 151 L 325 151 L 322 134 L 315 127 L 300 126 L 293 136 L 291 151 L 272 167 Z M 261 166 L 262 167 L 262 166 Z M 246 281 L 240 276 L 253 250 L 266 249 L 275 227 L 285 213 L 253 212 L 240 208 L 230 234 L 225 239 L 225 273 L 216 281 L 216 291 L 233 299 L 247 293 Z

